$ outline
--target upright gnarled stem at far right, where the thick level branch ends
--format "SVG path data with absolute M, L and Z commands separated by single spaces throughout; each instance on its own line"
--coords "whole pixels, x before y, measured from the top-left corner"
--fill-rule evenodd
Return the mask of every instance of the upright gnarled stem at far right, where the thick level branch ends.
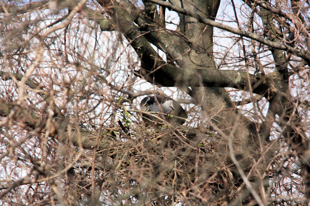
M 266 1 L 268 3 L 268 1 Z M 276 38 L 277 32 L 273 24 L 273 14 L 271 11 L 260 7 L 260 16 L 262 18 L 264 32 L 270 41 L 278 42 Z M 298 151 L 299 159 L 301 160 L 303 167 L 303 180 L 305 182 L 306 197 L 310 198 L 310 165 L 309 165 L 309 139 L 307 138 L 303 128 L 299 125 L 301 119 L 299 118 L 296 106 L 291 101 L 293 99 L 289 90 L 289 73 L 287 68 L 287 62 L 284 58 L 284 54 L 280 49 L 270 49 L 276 65 L 276 71 L 273 73 L 277 76 L 275 81 L 275 92 L 271 95 L 269 100 L 269 109 L 265 121 L 265 131 L 263 133 L 264 138 L 268 141 L 272 123 L 274 122 L 275 115 L 280 117 L 280 127 L 282 133 L 286 138 L 287 144 L 290 144 L 290 148 Z M 305 158 L 307 157 L 307 158 Z

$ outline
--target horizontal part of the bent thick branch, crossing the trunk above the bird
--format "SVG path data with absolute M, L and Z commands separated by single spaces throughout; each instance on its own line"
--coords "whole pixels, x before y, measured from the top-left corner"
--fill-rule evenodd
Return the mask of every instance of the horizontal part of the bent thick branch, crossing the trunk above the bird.
M 245 91 L 250 89 L 247 73 L 244 71 L 184 69 L 166 64 L 155 71 L 148 72 L 150 73 L 145 74 L 144 71 L 140 71 L 144 77 L 147 77 L 147 75 L 154 76 L 157 83 L 165 87 L 230 87 Z M 265 80 L 272 77 L 272 75 L 262 77 L 259 74 L 250 74 L 249 76 L 253 93 L 264 96 L 269 88 Z

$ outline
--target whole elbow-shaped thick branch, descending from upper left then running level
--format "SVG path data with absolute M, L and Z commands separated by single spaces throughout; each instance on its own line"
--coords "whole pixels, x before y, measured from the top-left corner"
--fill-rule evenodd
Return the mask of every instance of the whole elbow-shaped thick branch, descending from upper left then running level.
M 113 2 L 113 4 L 113 12 L 108 12 L 111 13 L 111 17 L 117 18 L 114 19 L 114 22 L 118 24 L 119 29 L 121 29 L 138 54 L 143 67 L 139 71 L 140 76 L 146 78 L 150 83 L 153 84 L 155 80 L 155 84 L 165 87 L 232 87 L 249 90 L 249 80 L 246 72 L 179 68 L 166 63 L 144 36 L 139 34 L 139 29 L 133 24 L 126 10 L 120 8 L 116 2 Z M 264 82 L 265 79 L 260 75 L 249 76 L 253 92 L 264 96 L 269 88 L 268 84 Z

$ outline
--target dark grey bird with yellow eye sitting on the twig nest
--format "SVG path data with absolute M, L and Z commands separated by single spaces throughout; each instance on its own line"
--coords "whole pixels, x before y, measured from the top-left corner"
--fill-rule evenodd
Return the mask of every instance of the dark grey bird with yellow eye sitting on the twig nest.
M 186 111 L 170 97 L 164 97 L 162 95 L 154 95 L 144 97 L 140 103 L 140 108 L 144 112 L 159 112 L 163 114 L 153 114 L 164 119 L 165 121 L 172 123 L 173 125 L 182 125 L 188 118 Z M 171 115 L 173 116 L 171 118 Z M 152 117 L 148 114 L 142 113 L 143 121 L 146 127 L 154 130 L 160 130 L 163 123 L 156 117 Z M 178 118 L 179 117 L 179 118 Z

